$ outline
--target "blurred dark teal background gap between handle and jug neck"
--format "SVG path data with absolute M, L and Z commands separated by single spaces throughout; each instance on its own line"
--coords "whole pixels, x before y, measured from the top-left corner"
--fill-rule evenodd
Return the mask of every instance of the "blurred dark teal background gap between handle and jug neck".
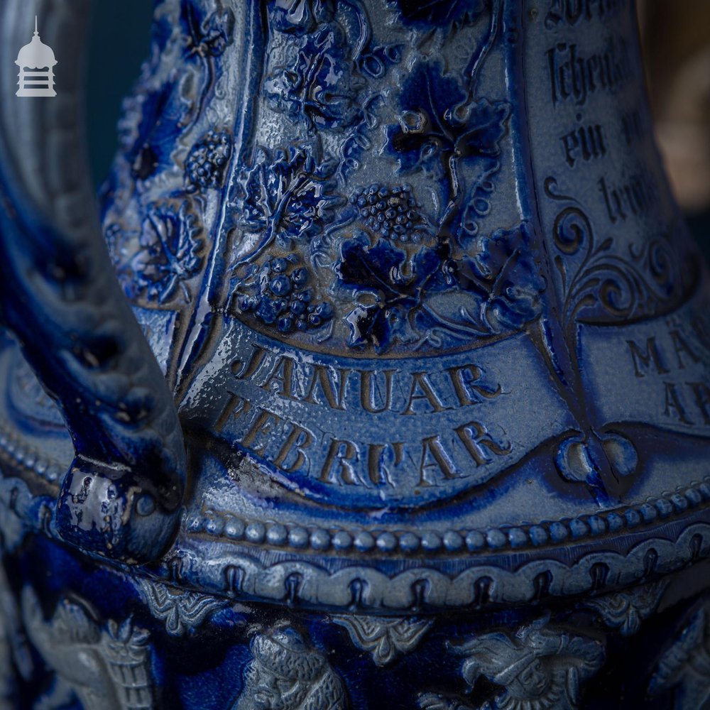
M 87 119 L 94 184 L 104 182 L 116 153 L 121 101 L 148 57 L 153 0 L 96 0 L 88 65 Z

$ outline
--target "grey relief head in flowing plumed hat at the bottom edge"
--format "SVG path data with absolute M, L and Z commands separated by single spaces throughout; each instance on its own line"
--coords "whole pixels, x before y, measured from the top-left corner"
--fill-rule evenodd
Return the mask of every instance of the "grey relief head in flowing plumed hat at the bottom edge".
M 547 618 L 514 635 L 486 633 L 451 648 L 466 657 L 461 673 L 471 687 L 482 675 L 503 688 L 481 710 L 574 710 L 581 685 L 605 657 L 601 641 Z

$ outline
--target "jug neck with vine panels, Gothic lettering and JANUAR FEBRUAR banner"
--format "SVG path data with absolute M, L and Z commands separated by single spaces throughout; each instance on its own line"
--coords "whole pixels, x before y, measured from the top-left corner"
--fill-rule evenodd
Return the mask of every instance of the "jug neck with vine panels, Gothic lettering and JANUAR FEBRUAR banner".
M 579 7 L 158 6 L 107 224 L 136 303 L 178 314 L 165 368 L 203 430 L 361 510 L 453 499 L 571 430 L 564 476 L 600 504 L 623 495 L 638 455 L 596 433 L 626 410 L 600 413 L 585 334 L 613 325 L 621 344 L 598 387 L 638 388 L 648 336 L 624 329 L 676 310 L 699 268 L 633 4 Z M 182 239 L 168 275 L 146 266 L 162 234 Z

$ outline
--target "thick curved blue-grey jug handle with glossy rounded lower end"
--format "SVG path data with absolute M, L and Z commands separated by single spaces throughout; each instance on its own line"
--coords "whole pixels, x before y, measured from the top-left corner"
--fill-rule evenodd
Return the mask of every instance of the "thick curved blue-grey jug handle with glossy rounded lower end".
M 88 10 L 88 0 L 0 5 L 0 314 L 74 441 L 58 534 L 86 552 L 147 562 L 175 533 L 185 447 L 99 229 L 82 131 Z M 52 98 L 16 97 L 9 70 L 35 14 L 58 60 Z

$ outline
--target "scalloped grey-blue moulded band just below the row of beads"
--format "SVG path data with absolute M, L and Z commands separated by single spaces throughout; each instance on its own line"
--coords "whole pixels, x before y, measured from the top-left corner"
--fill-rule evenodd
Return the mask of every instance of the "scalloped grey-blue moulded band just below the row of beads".
M 664 524 L 666 527 L 669 529 L 662 537 L 640 541 L 626 553 L 589 552 L 573 562 L 533 559 L 515 569 L 479 564 L 458 574 L 431 567 L 386 574 L 362 564 L 326 569 L 302 559 L 265 564 L 241 551 L 204 559 L 197 550 L 182 550 L 160 573 L 177 584 L 213 594 L 320 608 L 383 613 L 464 606 L 479 609 L 542 597 L 611 591 L 669 574 L 710 556 L 710 523 L 701 520 L 682 525 L 681 521 L 671 521 Z

